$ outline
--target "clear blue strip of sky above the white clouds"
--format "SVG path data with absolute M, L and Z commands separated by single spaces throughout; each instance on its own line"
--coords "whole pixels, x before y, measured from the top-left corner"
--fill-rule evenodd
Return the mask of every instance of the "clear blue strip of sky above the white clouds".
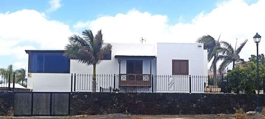
M 151 14 L 167 15 L 169 23 L 182 21 L 190 22 L 200 12 L 210 12 L 216 8 L 220 1 L 190 0 L 190 1 L 61 1 L 58 10 L 47 14 L 48 19 L 64 21 L 68 25 L 73 25 L 77 21 L 87 21 L 96 19 L 102 15 L 114 16 L 117 13 L 126 13 L 135 8 L 140 12 L 148 11 Z M 0 12 L 16 12 L 22 9 L 33 9 L 45 12 L 50 7 L 48 1 L 14 1 L 4 0 L 0 4 Z

